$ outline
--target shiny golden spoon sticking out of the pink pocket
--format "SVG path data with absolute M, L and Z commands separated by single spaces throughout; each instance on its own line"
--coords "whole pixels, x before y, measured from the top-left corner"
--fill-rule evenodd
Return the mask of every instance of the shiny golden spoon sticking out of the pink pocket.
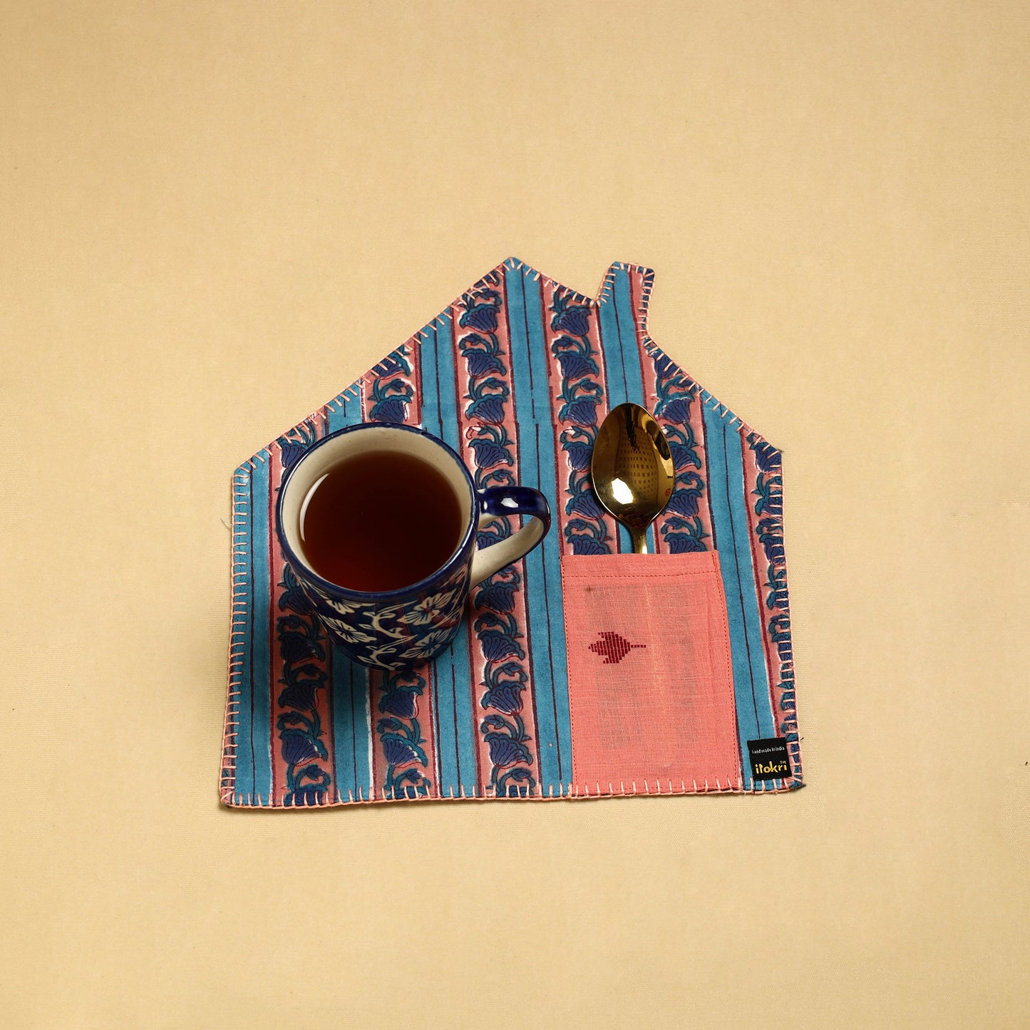
M 620 404 L 597 431 L 590 458 L 597 500 L 647 554 L 647 527 L 673 494 L 673 454 L 661 426 L 639 404 Z

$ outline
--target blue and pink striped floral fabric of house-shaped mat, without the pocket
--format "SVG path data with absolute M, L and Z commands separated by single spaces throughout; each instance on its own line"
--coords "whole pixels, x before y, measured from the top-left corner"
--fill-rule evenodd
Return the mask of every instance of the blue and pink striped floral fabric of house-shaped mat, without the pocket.
M 609 792 L 573 777 L 560 562 L 630 550 L 589 480 L 597 426 L 624 401 L 655 413 L 676 460 L 649 548 L 719 552 L 741 754 L 725 781 L 647 792 L 800 786 L 780 452 L 648 337 L 653 278 L 615 264 L 591 300 L 510 259 L 236 470 L 226 804 Z M 422 425 L 479 485 L 537 487 L 555 516 L 539 548 L 474 589 L 454 645 L 407 674 L 370 672 L 333 649 L 272 529 L 283 472 L 314 440 L 362 421 Z M 481 544 L 514 528 L 496 520 Z M 792 776 L 753 781 L 747 742 L 778 736 Z

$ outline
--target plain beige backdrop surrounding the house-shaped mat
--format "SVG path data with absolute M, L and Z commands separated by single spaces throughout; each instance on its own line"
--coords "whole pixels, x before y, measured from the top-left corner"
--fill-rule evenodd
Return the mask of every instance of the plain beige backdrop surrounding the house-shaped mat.
M 0 19 L 5 1027 L 1027 1025 L 1026 4 Z M 233 469 L 509 254 L 784 449 L 810 786 L 219 808 Z

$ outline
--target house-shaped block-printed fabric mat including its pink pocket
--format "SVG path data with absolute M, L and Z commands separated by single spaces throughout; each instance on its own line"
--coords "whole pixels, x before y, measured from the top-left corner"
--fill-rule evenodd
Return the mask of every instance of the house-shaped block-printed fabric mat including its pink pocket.
M 236 470 L 224 803 L 801 785 L 781 455 L 648 337 L 653 279 L 617 263 L 591 300 L 509 259 Z M 654 413 L 676 465 L 647 556 L 590 485 L 597 427 L 625 401 Z M 453 646 L 407 673 L 333 648 L 274 531 L 284 471 L 363 421 L 421 425 L 478 486 L 536 487 L 554 516 L 540 547 L 473 589 Z M 493 520 L 480 544 L 516 528 Z M 634 599 L 651 615 L 619 623 Z M 791 775 L 753 780 L 747 742 L 770 737 Z

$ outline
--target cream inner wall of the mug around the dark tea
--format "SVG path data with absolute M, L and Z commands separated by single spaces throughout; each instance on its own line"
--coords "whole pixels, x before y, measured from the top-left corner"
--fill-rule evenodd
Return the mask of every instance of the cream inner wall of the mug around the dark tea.
M 466 529 L 472 521 L 473 495 L 468 472 L 455 460 L 450 451 L 420 433 L 411 433 L 389 425 L 363 425 L 360 428 L 342 433 L 312 447 L 294 468 L 286 483 L 282 497 L 282 531 L 290 549 L 309 568 L 310 562 L 304 553 L 304 542 L 301 537 L 301 522 L 308 500 L 333 466 L 344 458 L 368 451 L 410 454 L 432 466 L 444 476 L 454 490 Z M 462 529 L 460 541 L 466 538 L 466 529 Z

